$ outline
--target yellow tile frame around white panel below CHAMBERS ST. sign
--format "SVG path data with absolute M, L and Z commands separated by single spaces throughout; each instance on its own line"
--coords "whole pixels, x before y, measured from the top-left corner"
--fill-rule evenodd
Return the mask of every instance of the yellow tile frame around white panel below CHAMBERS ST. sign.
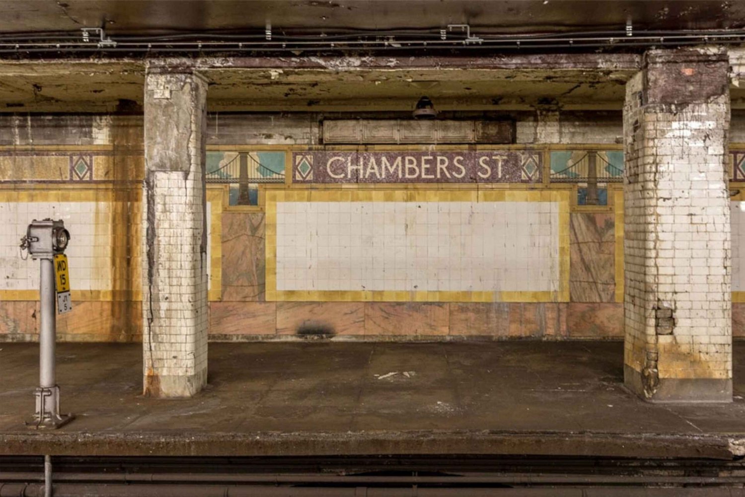
M 266 193 L 266 300 L 318 302 L 568 302 L 571 191 L 268 190 Z M 558 291 L 280 291 L 276 289 L 276 204 L 278 202 L 557 202 L 559 204 Z

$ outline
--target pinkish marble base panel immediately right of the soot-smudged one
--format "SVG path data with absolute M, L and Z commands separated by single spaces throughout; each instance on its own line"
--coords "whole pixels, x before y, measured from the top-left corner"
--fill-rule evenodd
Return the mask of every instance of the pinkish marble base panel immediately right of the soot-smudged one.
M 365 303 L 365 335 L 447 335 L 448 303 Z

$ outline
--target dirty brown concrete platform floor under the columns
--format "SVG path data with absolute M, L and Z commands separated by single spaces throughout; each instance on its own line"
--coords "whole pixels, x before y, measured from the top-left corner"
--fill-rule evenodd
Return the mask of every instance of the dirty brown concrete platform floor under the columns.
M 0 453 L 57 455 L 745 455 L 735 402 L 624 390 L 620 342 L 221 343 L 193 399 L 142 396 L 139 344 L 59 344 L 57 431 L 26 428 L 38 345 L 0 344 Z

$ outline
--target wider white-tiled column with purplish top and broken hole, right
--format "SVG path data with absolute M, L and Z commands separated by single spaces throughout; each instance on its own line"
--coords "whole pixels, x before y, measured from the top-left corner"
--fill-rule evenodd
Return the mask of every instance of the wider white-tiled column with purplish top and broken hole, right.
M 624 379 L 732 401 L 727 56 L 653 50 L 624 105 Z

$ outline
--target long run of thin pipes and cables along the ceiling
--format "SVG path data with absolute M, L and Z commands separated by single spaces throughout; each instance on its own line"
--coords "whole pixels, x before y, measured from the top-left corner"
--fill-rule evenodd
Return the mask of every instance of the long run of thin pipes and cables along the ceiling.
M 100 35 L 100 39 L 97 37 Z M 25 38 L 24 38 L 25 36 Z M 73 54 L 150 52 L 286 52 L 286 51 L 402 51 L 402 50 L 587 50 L 650 48 L 653 46 L 741 44 L 745 30 L 723 31 L 586 31 L 570 34 L 484 35 L 434 34 L 428 31 L 379 31 L 312 36 L 191 33 L 156 37 L 108 37 L 98 28 L 80 34 L 0 35 L 0 54 Z

